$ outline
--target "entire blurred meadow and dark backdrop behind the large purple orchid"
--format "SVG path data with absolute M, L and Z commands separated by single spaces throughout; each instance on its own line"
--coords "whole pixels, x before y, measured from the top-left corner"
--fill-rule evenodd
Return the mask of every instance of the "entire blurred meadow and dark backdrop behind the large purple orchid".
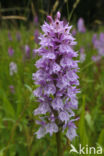
M 100 145 L 104 155 L 104 0 L 0 0 L 0 156 L 57 155 L 55 135 L 40 140 L 34 135 L 38 104 L 32 81 L 41 25 L 57 11 L 73 25 L 79 51 L 80 120 L 72 144 Z M 64 156 L 70 156 L 64 134 L 62 144 Z

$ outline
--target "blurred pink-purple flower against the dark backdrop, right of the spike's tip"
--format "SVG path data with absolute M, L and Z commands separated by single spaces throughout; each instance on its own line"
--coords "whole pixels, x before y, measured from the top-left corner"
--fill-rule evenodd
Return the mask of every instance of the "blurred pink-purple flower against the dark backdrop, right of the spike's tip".
M 78 31 L 81 33 L 85 33 L 86 32 L 86 28 L 85 28 L 85 24 L 84 24 L 84 19 L 83 18 L 79 18 L 78 23 L 77 23 L 77 28 Z

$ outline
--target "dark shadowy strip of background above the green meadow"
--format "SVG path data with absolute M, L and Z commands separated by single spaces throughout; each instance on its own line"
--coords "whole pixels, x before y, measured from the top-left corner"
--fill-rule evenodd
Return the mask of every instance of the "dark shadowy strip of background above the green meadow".
M 11 19 L 9 16 L 21 16 L 21 22 L 24 20 L 23 23 L 26 24 L 27 22 L 28 25 L 33 21 L 36 14 L 38 14 L 39 22 L 42 23 L 47 14 L 54 15 L 57 10 L 60 10 L 62 16 L 67 18 L 73 8 L 74 14 L 71 16 L 71 21 L 76 22 L 78 18 L 83 17 L 89 28 L 104 22 L 103 0 L 1 0 L 0 24 L 3 25 L 6 22 L 9 23 L 5 25 L 16 24 L 16 17 L 14 17 L 15 21 L 13 21 L 13 18 Z M 21 22 L 18 21 L 17 23 L 21 25 Z

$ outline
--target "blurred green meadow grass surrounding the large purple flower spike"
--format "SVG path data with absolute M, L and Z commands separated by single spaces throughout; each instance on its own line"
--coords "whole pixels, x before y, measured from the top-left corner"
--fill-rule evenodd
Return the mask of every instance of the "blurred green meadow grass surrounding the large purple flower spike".
M 35 124 L 37 117 L 33 116 L 37 103 L 32 95 L 36 87 L 32 73 L 36 71 L 34 64 L 37 59 L 32 53 L 38 47 L 32 40 L 34 28 L 27 30 L 21 27 L 20 42 L 16 40 L 17 31 L 10 30 L 13 40 L 9 41 L 8 30 L 0 30 L 0 156 L 56 156 L 55 135 L 47 135 L 40 140 L 34 135 L 38 128 Z M 79 109 L 76 116 L 80 116 L 80 120 L 76 122 L 78 137 L 72 144 L 76 149 L 79 144 L 97 149 L 99 144 L 104 150 L 104 58 L 98 63 L 91 61 L 92 55 L 97 53 L 92 45 L 93 33 L 87 31 L 76 36 L 78 44 L 75 48 L 85 48 L 86 60 L 79 63 L 81 93 L 78 95 Z M 26 44 L 31 48 L 31 57 L 24 60 L 23 46 Z M 12 57 L 8 56 L 8 47 L 15 51 Z M 11 61 L 18 67 L 17 74 L 13 76 L 9 75 Z M 10 85 L 14 86 L 14 94 L 10 92 Z M 62 143 L 65 156 L 78 155 L 69 153 L 70 142 L 64 134 Z

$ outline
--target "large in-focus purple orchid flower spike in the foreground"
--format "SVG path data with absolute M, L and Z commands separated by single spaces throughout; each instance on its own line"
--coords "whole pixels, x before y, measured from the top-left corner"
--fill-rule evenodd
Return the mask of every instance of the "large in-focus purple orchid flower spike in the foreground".
M 35 134 L 41 138 L 61 129 L 72 140 L 77 136 L 74 124 L 77 119 L 72 117 L 75 116 L 73 110 L 78 108 L 79 67 L 75 59 L 78 54 L 73 50 L 76 42 L 70 33 L 71 26 L 60 21 L 60 16 L 59 12 L 55 20 L 48 16 L 49 24 L 42 25 L 40 48 L 34 49 L 40 56 L 35 64 L 38 70 L 33 73 L 34 83 L 39 85 L 33 92 L 39 102 L 34 115 L 41 115 L 37 121 L 40 129 Z

